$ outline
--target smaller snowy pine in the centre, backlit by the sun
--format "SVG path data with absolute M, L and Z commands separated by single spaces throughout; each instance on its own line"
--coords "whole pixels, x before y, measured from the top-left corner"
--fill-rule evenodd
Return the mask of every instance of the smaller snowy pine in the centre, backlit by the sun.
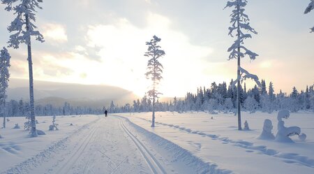
M 157 85 L 160 82 L 160 80 L 163 78 L 161 76 L 161 73 L 163 73 L 163 65 L 160 64 L 159 58 L 165 56 L 165 51 L 160 50 L 160 46 L 158 45 L 158 42 L 160 42 L 161 39 L 157 36 L 153 36 L 151 41 L 146 42 L 146 45 L 149 46 L 147 49 L 147 52 L 145 52 L 144 56 L 149 57 L 149 61 L 147 64 L 147 73 L 145 73 L 146 78 L 150 78 L 153 81 L 152 89 L 150 89 L 147 94 L 149 98 L 152 100 L 152 119 L 151 119 L 151 126 L 155 126 L 155 103 L 156 99 L 158 99 L 158 95 L 161 94 L 158 92 Z

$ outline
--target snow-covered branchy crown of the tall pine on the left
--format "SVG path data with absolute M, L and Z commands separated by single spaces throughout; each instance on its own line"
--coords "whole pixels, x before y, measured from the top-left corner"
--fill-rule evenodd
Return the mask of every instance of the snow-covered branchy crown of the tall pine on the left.
M 36 8 L 42 9 L 38 2 L 41 0 L 21 0 L 22 3 L 13 6 L 18 0 L 1 0 L 1 3 L 6 5 L 5 10 L 14 11 L 16 14 L 15 20 L 8 26 L 8 31 L 11 33 L 10 40 L 8 41 L 9 47 L 19 48 L 20 43 L 29 45 L 31 36 L 35 36 L 37 41 L 44 42 L 43 35 L 36 31 L 36 17 L 34 12 Z

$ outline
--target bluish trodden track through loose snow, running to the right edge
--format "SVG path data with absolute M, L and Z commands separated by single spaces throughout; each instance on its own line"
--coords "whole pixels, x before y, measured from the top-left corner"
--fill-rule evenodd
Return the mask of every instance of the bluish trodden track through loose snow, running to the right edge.
M 151 120 L 144 119 L 142 117 L 136 117 L 136 118 L 142 119 L 147 122 L 151 122 Z M 214 134 L 204 133 L 202 131 L 193 131 L 192 129 L 188 129 L 186 127 L 182 127 L 182 126 L 178 126 L 174 124 L 165 124 L 162 122 L 155 122 L 155 124 L 161 124 L 163 126 L 170 126 L 174 129 L 185 131 L 186 133 L 193 133 L 200 136 L 207 136 L 211 138 L 212 140 L 220 140 L 221 143 L 223 144 L 232 143 L 234 146 L 246 149 L 246 152 L 248 153 L 257 152 L 258 154 L 264 154 L 271 157 L 283 159 L 283 161 L 288 164 L 296 163 L 302 166 L 314 168 L 314 159 L 309 159 L 308 157 L 302 156 L 299 154 L 278 152 L 277 150 L 269 149 L 267 148 L 267 146 L 264 146 L 264 145 L 254 145 L 254 143 L 244 141 L 244 140 L 230 140 L 229 138 L 226 138 L 226 137 L 220 137 Z

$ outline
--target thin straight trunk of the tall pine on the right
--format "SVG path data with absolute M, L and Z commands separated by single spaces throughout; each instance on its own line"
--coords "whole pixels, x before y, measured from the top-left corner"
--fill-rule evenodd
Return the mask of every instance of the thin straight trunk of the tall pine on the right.
M 239 11 L 240 11 L 240 7 L 239 5 L 237 6 L 237 10 L 238 10 L 238 20 L 237 20 L 237 31 L 238 31 L 238 40 L 240 38 L 240 25 L 239 25 Z M 240 43 L 239 43 L 240 44 Z M 237 79 L 238 79 L 238 89 L 237 89 L 237 101 L 238 101 L 238 104 L 237 104 L 237 109 L 238 109 L 238 129 L 239 130 L 242 130 L 242 127 L 241 127 L 241 102 L 240 102 L 240 45 L 238 47 L 238 70 L 237 70 Z

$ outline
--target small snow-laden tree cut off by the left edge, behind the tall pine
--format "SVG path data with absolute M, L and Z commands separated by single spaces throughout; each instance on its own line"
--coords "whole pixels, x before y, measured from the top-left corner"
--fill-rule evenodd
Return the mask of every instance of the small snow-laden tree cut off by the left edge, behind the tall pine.
M 6 88 L 8 87 L 8 80 L 10 78 L 10 73 L 8 72 L 10 58 L 8 50 L 3 47 L 3 50 L 0 51 L 0 106 L 1 115 L 3 116 L 3 128 L 6 128 Z

